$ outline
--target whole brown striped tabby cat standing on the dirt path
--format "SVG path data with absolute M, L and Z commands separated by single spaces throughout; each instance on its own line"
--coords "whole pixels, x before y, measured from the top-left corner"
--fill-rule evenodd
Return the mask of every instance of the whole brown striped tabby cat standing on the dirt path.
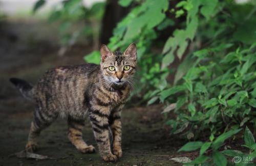
M 120 116 L 130 94 L 137 48 L 132 43 L 124 53 L 113 53 L 102 45 L 100 54 L 100 65 L 50 69 L 35 86 L 22 79 L 10 79 L 24 97 L 36 102 L 27 151 L 36 150 L 37 137 L 42 129 L 58 116 L 67 116 L 71 143 L 82 153 L 94 152 L 95 148 L 82 140 L 82 128 L 88 116 L 103 160 L 116 162 L 122 156 Z M 113 134 L 113 143 L 109 133 Z

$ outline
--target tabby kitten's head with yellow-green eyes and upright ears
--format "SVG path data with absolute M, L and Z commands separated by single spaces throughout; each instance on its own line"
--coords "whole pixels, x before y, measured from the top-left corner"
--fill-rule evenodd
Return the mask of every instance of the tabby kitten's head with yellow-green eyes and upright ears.
M 137 65 L 137 48 L 132 43 L 122 53 L 112 52 L 106 45 L 100 48 L 100 68 L 106 83 L 114 86 L 131 84 Z

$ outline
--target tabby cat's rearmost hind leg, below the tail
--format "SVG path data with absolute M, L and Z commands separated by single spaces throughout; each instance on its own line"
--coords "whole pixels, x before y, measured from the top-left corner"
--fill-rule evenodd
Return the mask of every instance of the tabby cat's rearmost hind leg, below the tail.
M 28 143 L 26 145 L 27 151 L 33 152 L 36 150 L 37 138 L 41 130 L 48 127 L 57 118 L 57 116 L 57 113 L 49 112 L 49 110 L 36 106 L 34 111 L 34 120 L 31 122 Z

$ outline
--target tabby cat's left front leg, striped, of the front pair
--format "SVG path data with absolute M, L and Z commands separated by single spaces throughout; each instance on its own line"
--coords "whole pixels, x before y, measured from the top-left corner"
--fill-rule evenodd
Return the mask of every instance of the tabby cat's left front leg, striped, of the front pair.
M 116 162 L 117 156 L 113 155 L 110 148 L 109 115 L 101 110 L 91 109 L 89 117 L 102 159 L 106 162 Z

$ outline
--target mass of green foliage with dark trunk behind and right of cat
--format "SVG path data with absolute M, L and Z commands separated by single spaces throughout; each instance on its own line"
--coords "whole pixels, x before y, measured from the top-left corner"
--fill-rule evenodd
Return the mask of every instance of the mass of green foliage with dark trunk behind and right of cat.
M 60 22 L 62 45 L 90 39 L 89 63 L 99 64 L 100 44 L 123 51 L 135 42 L 132 95 L 138 104 L 163 103 L 172 134 L 213 141 L 245 125 L 255 134 L 255 1 L 119 0 L 86 8 L 70 0 L 52 9 L 49 21 Z M 84 24 L 75 29 L 74 22 Z

